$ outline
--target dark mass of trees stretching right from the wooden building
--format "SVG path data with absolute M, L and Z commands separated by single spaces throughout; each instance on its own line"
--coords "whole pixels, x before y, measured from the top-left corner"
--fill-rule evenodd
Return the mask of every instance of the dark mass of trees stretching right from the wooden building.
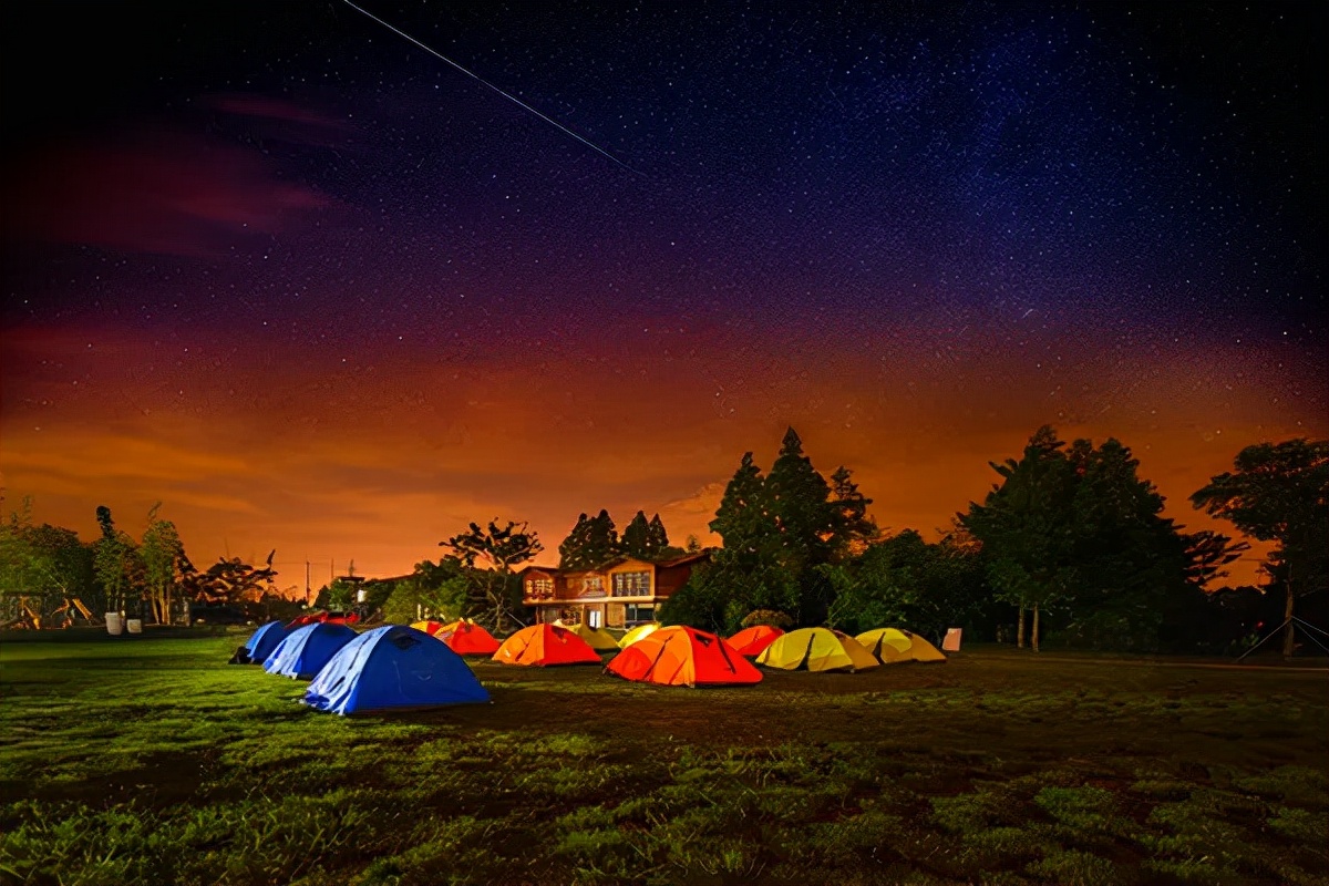
M 937 542 L 888 534 L 839 468 L 828 482 L 791 428 L 766 474 L 746 453 L 710 529 L 723 547 L 662 607 L 662 620 L 731 632 L 756 620 L 859 631 L 885 624 L 940 639 L 1038 648 L 1043 638 L 1092 648 L 1213 648 L 1231 643 L 1207 592 L 1248 549 L 1162 515 L 1164 498 L 1115 438 L 1066 444 L 1038 429 L 1019 458 L 991 464 L 982 502 Z M 1235 470 L 1191 497 L 1195 507 L 1276 542 L 1264 569 L 1293 600 L 1326 588 L 1329 442 L 1244 449 Z M 1296 583 L 1293 584 L 1293 576 Z M 1285 652 L 1293 647 L 1292 624 Z

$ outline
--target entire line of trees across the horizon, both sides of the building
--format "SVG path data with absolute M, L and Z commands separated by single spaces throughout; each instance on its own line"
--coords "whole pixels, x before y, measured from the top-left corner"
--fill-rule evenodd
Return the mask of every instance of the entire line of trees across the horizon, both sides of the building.
M 852 472 L 840 466 L 827 480 L 791 428 L 768 472 L 751 452 L 742 457 L 708 525 L 723 543 L 666 600 L 661 620 L 720 634 L 756 622 L 851 632 L 896 624 L 933 639 L 962 627 L 970 638 L 1033 648 L 1053 640 L 1220 651 L 1259 616 L 1286 623 L 1290 654 L 1297 602 L 1324 606 L 1329 441 L 1248 446 L 1233 470 L 1189 497 L 1193 507 L 1273 542 L 1264 590 L 1212 587 L 1248 545 L 1163 517 L 1163 495 L 1115 438 L 1067 444 L 1043 426 L 1018 458 L 991 468 L 997 482 L 982 502 L 928 542 L 913 529 L 881 530 Z M 280 599 L 271 555 L 266 566 L 219 558 L 198 570 L 159 509 L 149 510 L 136 539 L 98 507 L 101 537 L 82 542 L 72 530 L 33 525 L 25 501 L 0 525 L 0 618 L 12 622 L 25 595 L 80 598 L 94 612 L 141 611 L 159 623 L 178 620 L 187 606 L 239 604 L 256 615 Z M 347 608 L 363 590 L 365 608 L 388 620 L 470 616 L 500 632 L 529 620 L 516 570 L 544 545 L 526 523 L 470 523 L 440 546 L 439 561 L 421 561 L 409 575 L 332 582 L 315 604 Z M 558 546 L 567 570 L 699 550 L 694 537 L 671 545 L 659 514 L 638 511 L 619 534 L 607 510 L 579 514 Z M 1275 598 L 1280 611 L 1267 606 Z

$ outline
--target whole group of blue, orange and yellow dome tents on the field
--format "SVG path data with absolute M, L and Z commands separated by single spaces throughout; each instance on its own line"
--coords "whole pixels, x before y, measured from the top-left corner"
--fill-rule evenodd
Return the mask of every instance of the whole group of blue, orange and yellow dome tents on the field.
M 242 646 L 233 663 L 262 664 L 270 673 L 311 680 L 303 701 L 316 709 L 356 713 L 400 707 L 488 701 L 464 655 L 489 655 L 514 665 L 601 664 L 627 680 L 661 685 L 751 685 L 758 664 L 785 671 L 859 672 L 901 662 L 945 662 L 922 638 L 878 628 L 857 638 L 829 628 L 788 634 L 758 626 L 724 639 L 691 627 L 647 624 L 615 640 L 585 624 L 534 624 L 498 642 L 474 622 L 389 624 L 356 634 L 346 624 L 299 627 L 272 622 Z

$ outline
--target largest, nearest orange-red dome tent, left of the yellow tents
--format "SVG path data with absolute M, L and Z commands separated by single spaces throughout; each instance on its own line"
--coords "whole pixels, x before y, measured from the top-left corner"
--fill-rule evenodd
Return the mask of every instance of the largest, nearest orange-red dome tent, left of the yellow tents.
M 614 656 L 606 669 L 627 680 L 661 685 L 726 685 L 762 681 L 723 638 L 691 627 L 662 627 Z

